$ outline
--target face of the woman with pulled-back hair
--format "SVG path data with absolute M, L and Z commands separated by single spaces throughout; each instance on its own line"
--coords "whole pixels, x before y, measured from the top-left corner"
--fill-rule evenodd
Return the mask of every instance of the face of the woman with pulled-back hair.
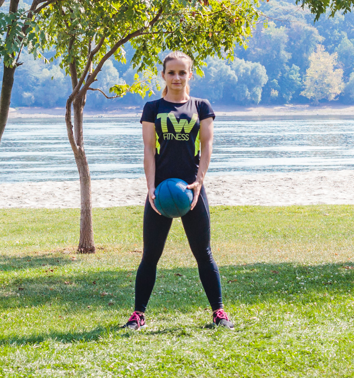
M 187 59 L 173 59 L 166 63 L 162 78 L 165 80 L 168 90 L 185 90 L 188 80 L 192 77 Z

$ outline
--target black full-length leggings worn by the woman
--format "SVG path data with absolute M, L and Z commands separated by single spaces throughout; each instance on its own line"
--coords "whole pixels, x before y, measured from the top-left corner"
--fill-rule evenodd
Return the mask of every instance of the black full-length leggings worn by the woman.
M 181 217 L 184 231 L 198 264 L 201 283 L 212 310 L 223 308 L 218 266 L 210 248 L 210 214 L 204 186 L 195 208 Z M 143 239 L 144 250 L 135 280 L 135 311 L 145 312 L 155 285 L 156 266 L 170 230 L 172 219 L 159 215 L 145 202 Z

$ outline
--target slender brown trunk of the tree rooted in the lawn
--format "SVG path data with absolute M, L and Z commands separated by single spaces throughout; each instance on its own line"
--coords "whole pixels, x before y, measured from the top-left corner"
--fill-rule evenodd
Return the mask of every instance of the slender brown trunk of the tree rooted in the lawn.
M 88 168 L 85 149 L 83 148 L 83 107 L 85 99 L 74 99 L 74 134 L 72 133 L 71 122 L 68 128 L 69 139 L 73 138 L 76 143 L 71 147 L 74 152 L 77 170 L 80 177 L 80 196 L 81 196 L 81 213 L 80 213 L 80 240 L 78 251 L 80 253 L 95 253 L 96 248 L 93 240 L 93 222 L 92 222 L 92 198 L 91 198 L 91 176 Z M 66 109 L 68 112 L 68 108 Z M 71 116 L 70 116 L 71 118 Z M 68 127 L 68 117 L 66 116 L 66 125 Z M 71 133 L 69 132 L 71 130 Z

